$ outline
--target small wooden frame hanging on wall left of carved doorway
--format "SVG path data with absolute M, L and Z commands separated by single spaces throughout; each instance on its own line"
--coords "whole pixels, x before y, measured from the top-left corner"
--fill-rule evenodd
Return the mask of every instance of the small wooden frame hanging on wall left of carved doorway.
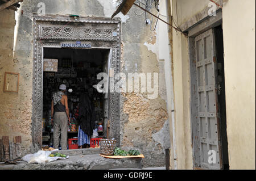
M 3 85 L 4 92 L 19 92 L 19 73 L 6 72 Z

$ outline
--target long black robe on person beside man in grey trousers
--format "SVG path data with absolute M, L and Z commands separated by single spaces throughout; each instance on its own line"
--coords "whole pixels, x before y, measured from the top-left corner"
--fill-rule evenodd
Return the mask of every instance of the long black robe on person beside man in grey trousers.
M 79 116 L 77 123 L 83 132 L 91 136 L 95 126 L 94 105 L 90 101 L 88 94 L 83 93 L 79 98 Z

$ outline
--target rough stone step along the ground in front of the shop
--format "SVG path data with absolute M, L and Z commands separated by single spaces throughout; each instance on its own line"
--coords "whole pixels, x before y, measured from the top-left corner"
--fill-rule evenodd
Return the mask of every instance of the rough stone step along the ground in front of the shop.
M 103 158 L 99 154 L 70 156 L 48 163 L 27 163 L 20 161 L 18 165 L 0 163 L 0 170 L 110 170 L 110 169 L 142 169 L 142 158 Z

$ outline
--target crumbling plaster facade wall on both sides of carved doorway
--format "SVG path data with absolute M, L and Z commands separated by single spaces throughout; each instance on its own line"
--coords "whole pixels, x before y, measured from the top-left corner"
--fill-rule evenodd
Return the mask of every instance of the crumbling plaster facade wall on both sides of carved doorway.
M 33 27 L 32 16 L 38 12 L 38 3 L 46 5 L 46 15 L 70 15 L 96 16 L 110 18 L 117 4 L 112 5 L 105 0 L 24 0 L 19 11 L 19 28 L 16 39 L 14 61 L 5 65 L 10 71 L 20 73 L 20 89 L 18 95 L 11 94 L 6 101 L 10 104 L 2 104 L 1 111 L 8 115 L 13 113 L 13 123 L 2 116 L 2 130 L 9 133 L 22 134 L 24 153 L 29 152 L 31 146 L 31 98 L 32 98 L 32 62 L 33 62 Z M 144 23 L 144 17 L 136 16 L 132 7 L 129 14 L 117 15 L 122 20 L 122 70 L 123 73 L 133 73 L 135 67 L 138 72 L 163 73 L 163 67 L 159 66 L 158 55 L 148 50 L 145 42 L 155 44 L 156 32 L 150 31 L 150 26 Z M 1 74 L 2 75 L 2 74 Z M 2 80 L 2 79 L 1 79 Z M 159 80 L 160 81 L 160 80 Z M 2 81 L 1 81 L 2 82 Z M 146 158 L 144 166 L 163 166 L 165 163 L 164 149 L 170 147 L 168 140 L 168 113 L 164 83 L 160 83 L 163 96 L 156 99 L 147 99 L 146 94 L 122 94 L 121 95 L 121 146 L 123 148 L 139 149 Z M 6 94 L 8 95 L 8 94 Z M 13 108 L 9 108 L 13 106 Z M 11 111 L 13 110 L 13 111 Z M 3 115 L 3 114 L 1 114 Z M 9 115 L 10 116 L 10 115 Z M 33 150 L 31 150 L 33 151 Z

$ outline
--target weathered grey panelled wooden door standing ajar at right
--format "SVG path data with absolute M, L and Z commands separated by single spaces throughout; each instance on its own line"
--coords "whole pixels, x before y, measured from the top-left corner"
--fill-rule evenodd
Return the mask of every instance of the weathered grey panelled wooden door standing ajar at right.
M 217 64 L 214 30 L 195 38 L 198 124 L 200 132 L 200 166 L 203 169 L 222 169 L 220 131 L 218 127 Z M 216 159 L 214 159 L 216 155 Z M 209 162 L 209 158 L 210 159 Z

